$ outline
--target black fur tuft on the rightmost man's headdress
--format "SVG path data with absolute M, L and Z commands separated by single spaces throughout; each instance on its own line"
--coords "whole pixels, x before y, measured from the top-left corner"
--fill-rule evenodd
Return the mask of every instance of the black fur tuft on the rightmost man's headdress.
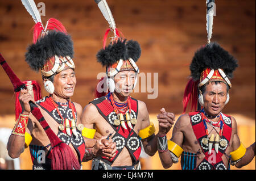
M 233 71 L 238 67 L 237 60 L 218 43 L 210 43 L 196 51 L 190 65 L 191 77 L 200 79 L 201 72 L 206 69 L 223 69 L 228 78 L 233 78 Z

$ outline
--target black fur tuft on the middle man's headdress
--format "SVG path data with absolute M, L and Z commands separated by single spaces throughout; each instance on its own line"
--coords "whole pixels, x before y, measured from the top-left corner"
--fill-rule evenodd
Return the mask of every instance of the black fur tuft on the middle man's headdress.
M 118 39 L 113 41 L 105 49 L 101 49 L 97 54 L 97 61 L 101 63 L 102 66 L 112 65 L 118 60 L 128 60 L 128 58 L 133 58 L 136 62 L 141 56 L 141 47 L 137 41 L 129 40 L 126 43 L 126 39 Z

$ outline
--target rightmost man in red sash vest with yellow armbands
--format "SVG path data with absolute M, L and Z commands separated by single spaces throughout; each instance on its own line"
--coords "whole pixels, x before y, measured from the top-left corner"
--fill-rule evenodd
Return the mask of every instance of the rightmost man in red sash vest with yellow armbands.
M 209 43 L 195 53 L 191 79 L 184 93 L 184 112 L 189 102 L 202 109 L 181 115 L 172 132 L 171 151 L 159 152 L 164 168 L 176 162 L 172 158 L 181 154 L 181 169 L 230 169 L 230 163 L 242 167 L 255 156 L 255 142 L 245 148 L 237 134 L 234 117 L 222 113 L 229 102 L 230 78 L 237 61 L 217 43 Z M 198 90 L 199 89 L 199 96 Z M 173 145 L 176 145 L 174 147 Z M 177 149 L 179 155 L 177 155 Z

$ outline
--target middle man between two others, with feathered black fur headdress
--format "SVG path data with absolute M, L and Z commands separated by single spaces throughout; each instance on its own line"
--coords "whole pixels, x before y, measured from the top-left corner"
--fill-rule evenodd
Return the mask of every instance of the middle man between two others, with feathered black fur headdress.
M 112 17 L 105 0 L 96 2 L 103 14 L 108 13 L 104 15 L 105 18 Z M 141 169 L 139 156 L 142 145 L 144 151 L 151 156 L 158 150 L 158 136 L 154 134 L 155 127 L 150 123 L 146 104 L 130 96 L 137 82 L 139 68 L 136 62 L 141 56 L 141 47 L 137 41 L 128 41 L 119 36 L 113 17 L 108 22 L 112 22 L 110 27 L 114 36 L 106 46 L 110 32 L 108 29 L 104 37 L 104 48 L 97 53 L 97 61 L 106 67 L 106 77 L 98 83 L 97 98 L 84 108 L 81 121 L 88 129 L 87 132 L 92 133 L 89 137 L 108 136 L 116 143 L 114 156 L 94 158 L 92 169 Z M 175 116 L 165 110 L 162 112 L 164 115 L 159 119 L 166 122 L 166 127 L 160 125 L 159 133 L 166 134 L 174 124 Z M 167 144 L 163 145 L 163 149 L 167 149 Z

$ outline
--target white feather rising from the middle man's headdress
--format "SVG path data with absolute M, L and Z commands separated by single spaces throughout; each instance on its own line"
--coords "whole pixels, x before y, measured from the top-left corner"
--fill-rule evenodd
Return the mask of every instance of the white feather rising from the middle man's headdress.
M 112 12 L 109 9 L 108 3 L 106 0 L 94 0 L 99 9 L 101 10 L 104 18 L 108 21 L 110 29 L 114 32 L 114 37 L 117 37 L 115 33 L 115 21 L 112 15 Z

